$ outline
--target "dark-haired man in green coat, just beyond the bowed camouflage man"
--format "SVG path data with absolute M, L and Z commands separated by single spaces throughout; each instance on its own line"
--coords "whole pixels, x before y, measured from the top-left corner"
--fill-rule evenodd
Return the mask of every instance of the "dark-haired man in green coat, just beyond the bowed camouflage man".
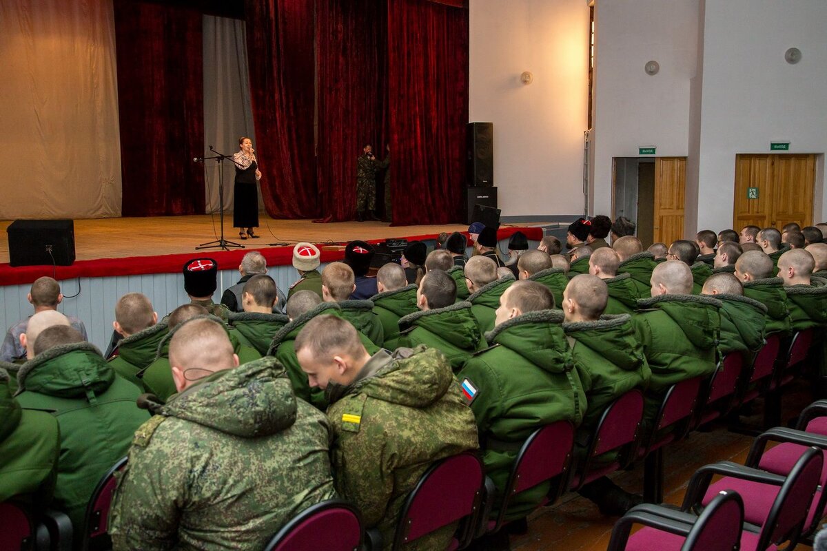
M 483 257 L 474 257 L 490 262 Z M 474 260 L 471 259 L 471 260 Z M 471 261 L 468 263 L 471 266 Z M 480 348 L 480 325 L 468 302 L 456 302 L 457 285 L 447 273 L 425 274 L 416 293 L 420 311 L 399 319 L 399 346 L 426 344 L 447 356 L 457 371 Z M 456 303 L 455 303 L 456 302 Z

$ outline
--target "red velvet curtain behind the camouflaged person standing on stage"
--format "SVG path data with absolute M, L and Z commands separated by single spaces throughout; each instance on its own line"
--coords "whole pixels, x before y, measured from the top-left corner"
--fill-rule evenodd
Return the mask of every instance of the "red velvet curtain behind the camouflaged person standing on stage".
M 323 221 L 352 220 L 356 157 L 370 144 L 385 159 L 387 0 L 318 0 L 316 36 L 319 204 Z

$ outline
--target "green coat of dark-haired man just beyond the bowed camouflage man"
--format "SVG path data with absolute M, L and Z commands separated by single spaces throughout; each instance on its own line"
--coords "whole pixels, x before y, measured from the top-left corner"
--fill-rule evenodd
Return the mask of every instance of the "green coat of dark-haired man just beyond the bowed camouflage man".
M 453 370 L 481 347 L 485 347 L 480 325 L 469 302 L 444 308 L 417 311 L 399 320 L 399 346 L 414 348 L 425 344 L 445 354 Z

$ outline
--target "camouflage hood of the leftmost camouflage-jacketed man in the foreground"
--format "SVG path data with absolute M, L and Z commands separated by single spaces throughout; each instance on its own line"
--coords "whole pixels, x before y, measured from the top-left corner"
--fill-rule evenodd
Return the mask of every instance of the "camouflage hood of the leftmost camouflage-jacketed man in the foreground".
M 288 429 L 296 420 L 296 411 L 284 368 L 267 357 L 213 373 L 170 397 L 159 413 L 227 435 L 257 438 Z

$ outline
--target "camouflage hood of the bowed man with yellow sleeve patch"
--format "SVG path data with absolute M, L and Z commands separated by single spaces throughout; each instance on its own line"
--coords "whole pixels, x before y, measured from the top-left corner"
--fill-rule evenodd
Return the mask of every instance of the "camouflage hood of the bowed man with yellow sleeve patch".
M 437 349 L 400 348 L 392 361 L 372 377 L 355 382 L 347 394 L 362 393 L 376 400 L 423 408 L 439 401 L 454 382 L 451 363 Z

